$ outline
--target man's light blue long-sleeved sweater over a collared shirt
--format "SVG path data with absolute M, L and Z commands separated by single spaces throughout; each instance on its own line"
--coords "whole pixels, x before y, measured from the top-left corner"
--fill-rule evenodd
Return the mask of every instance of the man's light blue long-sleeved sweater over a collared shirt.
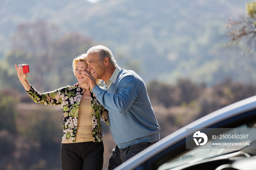
M 95 86 L 93 93 L 109 112 L 109 129 L 118 148 L 160 139 L 160 127 L 138 74 L 121 69 L 108 90 Z

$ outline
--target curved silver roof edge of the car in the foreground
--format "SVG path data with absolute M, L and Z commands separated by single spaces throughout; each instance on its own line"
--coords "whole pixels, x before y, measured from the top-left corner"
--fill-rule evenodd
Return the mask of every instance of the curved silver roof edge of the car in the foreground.
M 228 105 L 222 109 L 219 109 L 215 112 L 212 112 L 159 140 L 157 143 L 146 148 L 134 157 L 130 158 L 128 161 L 118 166 L 115 170 L 134 169 L 142 162 L 147 161 L 147 159 L 151 158 L 153 155 L 165 150 L 166 148 L 172 146 L 180 140 L 185 139 L 186 128 L 207 128 L 220 121 L 229 119 L 237 115 L 241 115 L 254 109 L 256 109 L 256 96 L 246 98 L 234 104 Z

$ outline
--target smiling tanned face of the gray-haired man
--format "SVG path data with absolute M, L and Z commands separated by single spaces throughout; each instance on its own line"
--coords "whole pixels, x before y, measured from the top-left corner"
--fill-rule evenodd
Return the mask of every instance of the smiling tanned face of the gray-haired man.
M 104 65 L 104 62 L 101 62 L 99 60 L 98 53 L 89 53 L 87 55 L 86 63 L 88 65 L 87 70 L 91 72 L 91 75 L 95 79 L 103 79 L 104 72 L 106 70 L 106 66 Z

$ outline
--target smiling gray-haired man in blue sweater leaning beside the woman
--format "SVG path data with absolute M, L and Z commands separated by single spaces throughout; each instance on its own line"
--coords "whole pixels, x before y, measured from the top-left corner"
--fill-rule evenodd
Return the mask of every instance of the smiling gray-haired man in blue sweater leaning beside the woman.
M 97 100 L 108 110 L 108 122 L 116 147 L 109 159 L 112 170 L 160 139 L 160 127 L 148 98 L 146 86 L 132 70 L 117 66 L 105 46 L 87 51 L 83 73 Z M 104 81 L 101 89 L 95 79 Z

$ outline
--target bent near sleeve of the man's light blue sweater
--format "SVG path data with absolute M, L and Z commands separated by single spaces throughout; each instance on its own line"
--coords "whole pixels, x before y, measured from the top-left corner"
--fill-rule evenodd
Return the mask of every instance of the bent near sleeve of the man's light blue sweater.
M 96 94 L 99 103 L 108 111 L 123 114 L 135 101 L 139 89 L 135 78 L 132 76 L 124 77 L 116 83 L 118 83 L 116 94 L 108 93 L 107 90 L 101 89 L 98 85 L 94 86 L 93 92 Z

